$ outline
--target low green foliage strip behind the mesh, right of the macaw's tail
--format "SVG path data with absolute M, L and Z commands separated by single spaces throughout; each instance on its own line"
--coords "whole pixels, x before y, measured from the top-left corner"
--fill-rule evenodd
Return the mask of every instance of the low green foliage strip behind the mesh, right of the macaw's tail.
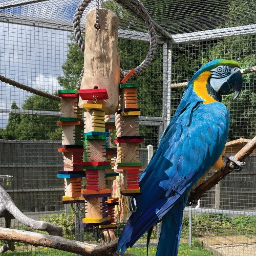
M 204 236 L 228 236 L 228 235 L 256 235 L 256 217 L 234 216 L 226 214 L 204 213 L 194 216 L 192 219 L 193 237 Z M 182 237 L 188 237 L 189 218 L 185 217 L 182 222 Z

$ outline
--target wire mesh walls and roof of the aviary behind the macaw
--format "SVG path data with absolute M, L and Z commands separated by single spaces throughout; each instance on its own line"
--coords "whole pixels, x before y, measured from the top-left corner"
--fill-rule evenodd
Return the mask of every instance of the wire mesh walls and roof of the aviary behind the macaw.
M 200 1 L 142 2 L 154 19 L 158 39 L 154 62 L 130 79 L 139 83 L 140 135 L 145 139 L 140 145 L 140 161 L 145 168 L 147 145 L 156 150 L 185 89 L 172 88 L 172 84 L 188 82 L 204 63 L 216 58 L 236 60 L 241 68 L 256 65 L 256 10 L 252 1 L 242 0 L 205 1 L 203 5 Z M 2 1 L 0 75 L 50 94 L 74 89 L 83 67 L 83 55 L 72 32 L 78 3 Z M 218 3 L 222 8 L 217 8 Z M 116 12 L 120 19 L 120 67 L 137 67 L 149 47 L 144 21 L 122 1 L 103 1 L 103 7 Z M 87 9 L 91 8 L 94 3 Z M 81 19 L 82 33 L 86 32 L 87 9 Z M 229 96 L 223 99 L 231 116 L 227 155 L 236 154 L 256 134 L 256 73 L 243 78 L 240 97 L 236 101 Z M 96 243 L 92 230 L 79 227 L 70 206 L 62 205 L 64 184 L 57 178 L 63 166 L 58 152 L 61 129 L 56 124 L 59 102 L 5 82 L 0 86 L 0 175 L 14 177 L 5 189 L 30 218 L 61 225 L 65 238 Z M 242 172 L 231 173 L 207 191 L 197 206 L 185 208 L 179 255 L 256 255 L 255 157 L 253 152 Z M 210 170 L 206 178 L 214 172 Z M 124 224 L 118 224 L 115 237 L 120 236 Z M 11 227 L 29 229 L 17 220 L 12 220 Z M 156 253 L 159 234 L 160 224 L 153 230 L 150 255 Z M 146 255 L 145 243 L 146 234 L 127 252 Z M 21 243 L 6 254 L 73 255 Z

